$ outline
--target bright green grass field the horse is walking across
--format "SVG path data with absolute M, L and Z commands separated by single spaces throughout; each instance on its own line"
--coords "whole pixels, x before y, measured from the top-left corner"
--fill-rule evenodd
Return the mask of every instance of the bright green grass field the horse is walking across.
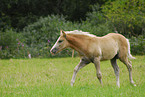
M 128 71 L 118 60 L 120 88 L 110 61 L 101 62 L 103 86 L 93 64 L 81 69 L 74 87 L 70 81 L 79 58 L 0 60 L 0 97 L 145 97 L 145 56 L 136 56 L 131 86 Z

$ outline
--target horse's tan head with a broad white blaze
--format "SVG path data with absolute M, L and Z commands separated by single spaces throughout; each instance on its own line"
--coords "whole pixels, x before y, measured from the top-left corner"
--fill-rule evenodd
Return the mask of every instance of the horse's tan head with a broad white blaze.
M 61 30 L 60 37 L 57 39 L 56 43 L 53 45 L 50 52 L 52 54 L 56 54 L 67 47 L 68 47 L 68 42 L 66 40 L 66 33 Z

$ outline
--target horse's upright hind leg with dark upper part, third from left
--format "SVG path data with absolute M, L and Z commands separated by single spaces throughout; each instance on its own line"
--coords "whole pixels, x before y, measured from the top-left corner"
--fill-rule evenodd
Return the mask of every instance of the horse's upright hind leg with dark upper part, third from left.
M 115 72 L 115 76 L 116 76 L 116 84 L 118 87 L 120 87 L 120 82 L 119 82 L 119 67 L 117 65 L 117 59 L 116 58 L 113 58 L 111 59 L 111 65 L 114 69 L 114 72 Z

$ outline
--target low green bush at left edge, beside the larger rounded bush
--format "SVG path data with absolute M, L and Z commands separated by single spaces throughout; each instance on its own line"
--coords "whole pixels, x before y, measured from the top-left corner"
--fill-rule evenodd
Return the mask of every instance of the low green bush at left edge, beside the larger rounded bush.
M 25 44 L 22 42 L 22 35 L 9 29 L 0 31 L 0 58 L 23 57 Z

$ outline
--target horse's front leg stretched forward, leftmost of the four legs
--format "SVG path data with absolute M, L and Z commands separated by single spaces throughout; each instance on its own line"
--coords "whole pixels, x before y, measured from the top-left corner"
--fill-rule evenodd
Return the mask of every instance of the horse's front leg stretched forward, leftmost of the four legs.
M 88 62 L 87 60 L 85 60 L 85 59 L 82 58 L 82 59 L 80 60 L 80 63 L 74 68 L 74 73 L 73 73 L 72 80 L 71 80 L 71 86 L 73 86 L 73 84 L 74 84 L 74 82 L 75 82 L 75 78 L 76 78 L 77 72 L 78 72 L 81 68 L 83 68 L 84 66 L 86 66 L 88 63 L 90 63 L 90 62 Z

